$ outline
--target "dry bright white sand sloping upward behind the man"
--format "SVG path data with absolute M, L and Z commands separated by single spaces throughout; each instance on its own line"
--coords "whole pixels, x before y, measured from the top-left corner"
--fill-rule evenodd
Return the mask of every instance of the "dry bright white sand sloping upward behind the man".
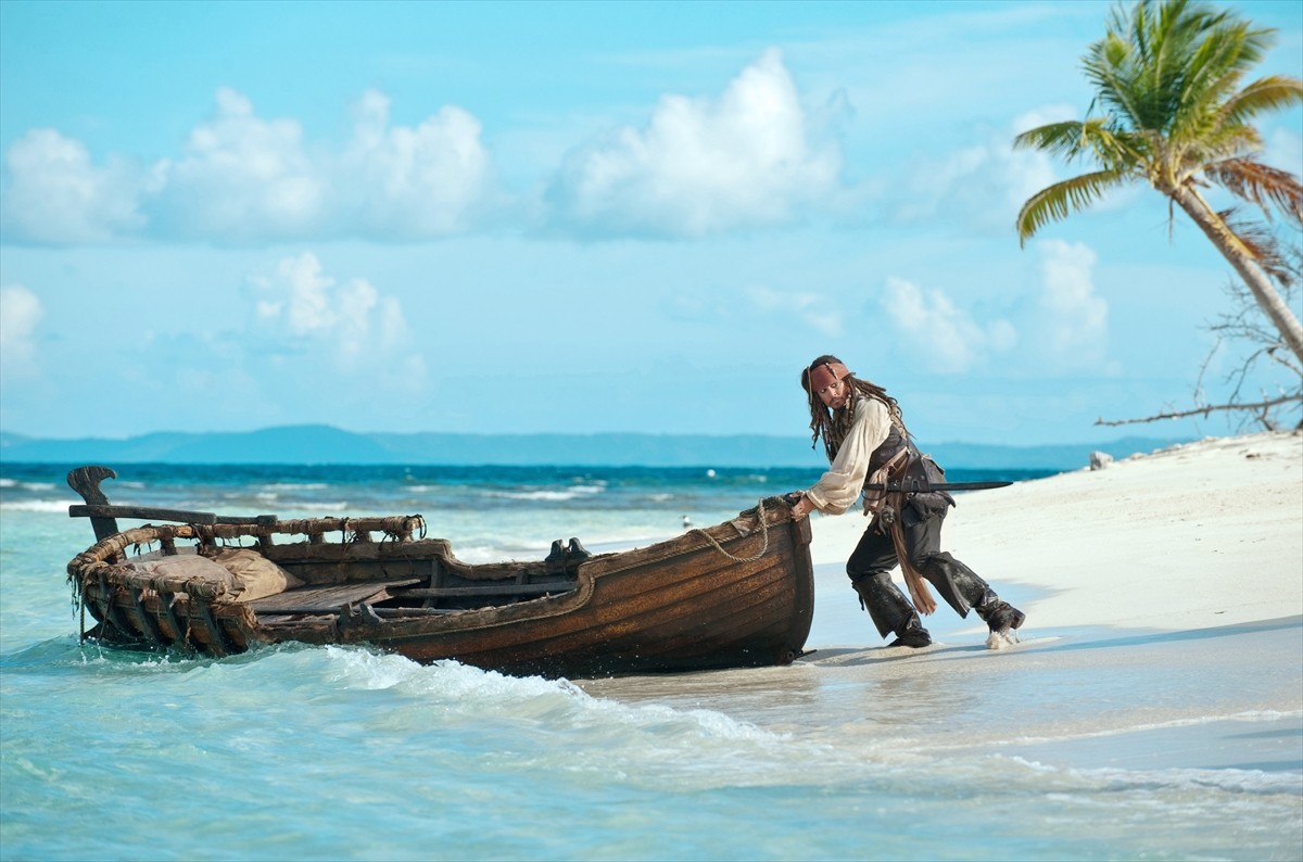
M 865 523 L 856 510 L 814 516 L 816 634 L 825 642 L 878 642 L 844 574 Z M 1102 470 L 968 492 L 946 518 L 942 548 L 1009 598 L 1035 587 L 1022 605 L 1028 634 L 1303 615 L 1303 435 L 1208 439 Z M 894 577 L 902 585 L 899 570 Z M 934 633 L 985 630 L 939 599 L 924 622 Z

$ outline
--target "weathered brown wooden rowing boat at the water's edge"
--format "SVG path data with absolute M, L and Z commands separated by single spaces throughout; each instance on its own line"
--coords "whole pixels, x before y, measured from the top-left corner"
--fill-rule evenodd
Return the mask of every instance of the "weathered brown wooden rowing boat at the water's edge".
M 470 565 L 421 516 L 219 517 L 111 505 L 78 467 L 98 542 L 68 564 L 83 637 L 215 656 L 365 643 L 430 663 L 593 677 L 787 664 L 813 615 L 809 521 L 782 497 L 620 553 L 577 539 L 545 560 Z M 172 523 L 119 530 L 116 518 Z

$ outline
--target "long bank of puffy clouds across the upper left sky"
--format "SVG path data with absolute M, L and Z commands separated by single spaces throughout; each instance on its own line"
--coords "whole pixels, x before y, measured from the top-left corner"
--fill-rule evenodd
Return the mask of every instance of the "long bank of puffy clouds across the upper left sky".
M 367 91 L 343 148 L 306 141 L 289 118 L 263 118 L 223 87 L 182 148 L 147 169 L 36 129 L 5 154 L 7 238 L 52 245 L 124 238 L 258 243 L 323 236 L 420 240 L 465 229 L 487 194 L 480 122 L 444 107 L 394 126 Z

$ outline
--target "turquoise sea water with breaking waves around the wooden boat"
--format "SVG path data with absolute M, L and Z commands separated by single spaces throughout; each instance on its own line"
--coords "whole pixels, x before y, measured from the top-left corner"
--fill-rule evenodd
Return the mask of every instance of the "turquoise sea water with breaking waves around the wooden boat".
M 792 667 L 573 681 L 352 647 L 216 660 L 81 645 L 64 566 L 91 533 L 66 517 L 79 500 L 65 471 L 0 470 L 3 859 L 1287 859 L 1303 846 L 1298 716 L 1272 708 L 1293 680 L 1247 671 L 1221 703 L 1199 674 L 1071 633 L 1010 656 L 954 638 L 916 660 L 881 650 L 866 621 L 861 643 L 829 645 L 821 594 L 820 652 Z M 104 490 L 223 514 L 421 513 L 478 561 L 537 559 L 572 535 L 649 543 L 816 475 L 134 465 Z M 951 471 L 981 478 L 994 477 Z M 839 589 L 835 607 L 853 603 Z M 1243 637 L 1281 637 L 1269 629 Z M 1199 643 L 1145 648 L 1161 661 Z M 1235 706 L 1259 688 L 1263 710 Z M 1092 710 L 1110 699 L 1101 725 Z M 1036 749 L 1209 715 L 1280 736 L 1285 762 L 1046 766 Z

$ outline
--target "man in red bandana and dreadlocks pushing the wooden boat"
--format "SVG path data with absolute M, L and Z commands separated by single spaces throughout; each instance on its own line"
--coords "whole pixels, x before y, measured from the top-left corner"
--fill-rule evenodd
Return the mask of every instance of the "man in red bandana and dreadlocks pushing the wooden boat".
M 941 551 L 941 523 L 955 504 L 945 491 L 903 492 L 868 490 L 887 483 L 921 487 L 943 482 L 945 471 L 915 448 L 900 415 L 900 406 L 886 389 L 856 378 L 840 359 L 822 355 L 801 371 L 801 387 L 809 398 L 812 447 L 822 439 L 829 470 L 803 491 L 792 517 L 818 509 L 842 514 L 860 495 L 868 529 L 846 564 L 860 605 L 889 646 L 925 647 L 932 635 L 919 612 L 932 613 L 936 602 L 930 583 L 960 617 L 969 608 L 990 628 L 986 645 L 998 648 L 1010 642 L 1025 615 L 1001 600 L 995 591 L 967 565 Z M 900 565 L 911 604 L 895 583 L 891 570 Z

